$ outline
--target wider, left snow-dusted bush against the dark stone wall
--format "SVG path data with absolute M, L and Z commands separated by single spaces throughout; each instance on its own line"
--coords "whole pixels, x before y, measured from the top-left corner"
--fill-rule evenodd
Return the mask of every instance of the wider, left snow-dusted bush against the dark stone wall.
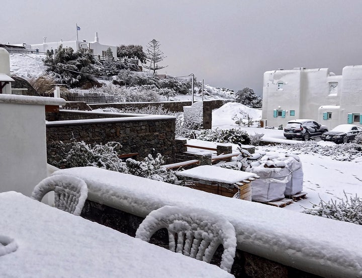
M 68 144 L 60 141 L 58 147 L 63 152 L 64 159 L 51 161 L 51 164 L 59 168 L 95 166 L 123 173 L 128 172 L 126 163 L 118 157 L 118 150 L 122 148 L 118 142 L 108 142 L 104 145 L 102 143 L 87 144 L 73 139 Z

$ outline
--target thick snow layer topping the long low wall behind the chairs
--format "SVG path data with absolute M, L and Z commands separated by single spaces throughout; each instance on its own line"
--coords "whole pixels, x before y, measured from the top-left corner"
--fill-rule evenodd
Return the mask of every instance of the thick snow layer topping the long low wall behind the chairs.
M 94 167 L 54 174 L 82 178 L 88 199 L 146 217 L 165 205 L 200 207 L 234 225 L 237 248 L 323 277 L 362 277 L 362 226 Z

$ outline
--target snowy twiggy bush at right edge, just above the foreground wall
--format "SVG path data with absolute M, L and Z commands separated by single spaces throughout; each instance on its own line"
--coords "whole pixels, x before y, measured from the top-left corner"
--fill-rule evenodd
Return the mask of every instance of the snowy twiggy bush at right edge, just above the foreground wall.
M 362 199 L 357 195 L 348 198 L 345 193 L 344 196 L 345 200 L 340 202 L 330 200 L 326 203 L 320 199 L 318 205 L 313 204 L 312 209 L 305 208 L 303 213 L 362 225 Z

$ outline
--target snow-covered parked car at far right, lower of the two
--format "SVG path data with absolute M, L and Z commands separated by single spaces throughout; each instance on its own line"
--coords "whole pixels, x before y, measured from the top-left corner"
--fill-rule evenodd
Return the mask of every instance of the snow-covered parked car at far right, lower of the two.
M 335 143 L 347 143 L 348 141 L 354 140 L 359 132 L 362 132 L 362 128 L 359 126 L 351 124 L 339 125 L 323 133 L 322 140 Z

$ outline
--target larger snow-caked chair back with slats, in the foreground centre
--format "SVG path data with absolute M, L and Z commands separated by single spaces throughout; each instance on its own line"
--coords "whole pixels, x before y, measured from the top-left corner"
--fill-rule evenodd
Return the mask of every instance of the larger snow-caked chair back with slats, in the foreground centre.
M 236 250 L 234 226 L 223 216 L 199 208 L 164 206 L 141 223 L 136 238 L 149 242 L 158 230 L 168 231 L 169 249 L 210 263 L 220 244 L 220 268 L 230 272 Z

